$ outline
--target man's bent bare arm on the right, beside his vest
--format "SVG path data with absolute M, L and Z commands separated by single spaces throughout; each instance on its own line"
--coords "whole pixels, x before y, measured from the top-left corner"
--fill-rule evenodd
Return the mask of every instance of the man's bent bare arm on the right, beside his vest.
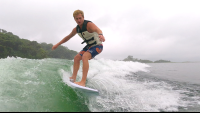
M 100 41 L 104 42 L 105 37 L 103 36 L 103 32 L 92 22 L 88 22 L 87 29 L 89 32 L 93 33 L 96 32 L 99 34 Z

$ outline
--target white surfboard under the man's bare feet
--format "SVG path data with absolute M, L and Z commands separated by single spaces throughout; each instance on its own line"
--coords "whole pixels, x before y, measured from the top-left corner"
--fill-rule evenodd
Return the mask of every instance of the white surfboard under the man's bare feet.
M 70 83 L 70 87 L 72 87 L 74 89 L 77 89 L 79 91 L 86 92 L 86 93 L 99 93 L 99 91 L 97 89 L 80 86 L 80 85 L 75 84 L 75 83 L 73 83 L 71 81 L 69 81 L 69 83 Z

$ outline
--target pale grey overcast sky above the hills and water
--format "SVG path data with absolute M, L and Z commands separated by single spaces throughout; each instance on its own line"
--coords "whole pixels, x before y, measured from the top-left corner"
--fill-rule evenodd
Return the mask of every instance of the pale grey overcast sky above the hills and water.
M 76 27 L 77 9 L 103 31 L 97 59 L 200 61 L 200 0 L 0 0 L 0 29 L 56 44 Z M 81 42 L 62 45 L 79 52 Z

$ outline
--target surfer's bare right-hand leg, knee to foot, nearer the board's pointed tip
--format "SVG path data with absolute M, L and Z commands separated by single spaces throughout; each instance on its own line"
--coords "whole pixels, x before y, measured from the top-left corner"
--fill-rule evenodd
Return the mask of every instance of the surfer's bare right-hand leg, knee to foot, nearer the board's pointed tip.
M 75 82 L 78 85 L 85 86 L 86 79 L 87 79 L 87 73 L 89 70 L 89 60 L 92 58 L 91 53 L 85 52 L 82 56 L 83 61 L 83 76 L 80 82 Z

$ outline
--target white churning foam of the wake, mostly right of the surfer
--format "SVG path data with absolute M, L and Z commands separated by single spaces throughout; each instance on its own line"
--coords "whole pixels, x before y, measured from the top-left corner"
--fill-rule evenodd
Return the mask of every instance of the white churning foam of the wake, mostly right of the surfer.
M 99 59 L 90 60 L 89 65 L 86 86 L 100 92 L 100 96 L 88 98 L 91 111 L 178 111 L 180 104 L 184 106 L 179 100 L 180 92 L 172 91 L 169 84 L 137 80 L 140 76 L 136 76 L 136 72 L 148 73 L 147 67 L 150 66 L 147 64 Z M 69 73 L 63 78 L 68 77 Z M 77 81 L 81 77 L 82 67 L 78 71 Z M 63 81 L 67 82 L 66 79 Z

